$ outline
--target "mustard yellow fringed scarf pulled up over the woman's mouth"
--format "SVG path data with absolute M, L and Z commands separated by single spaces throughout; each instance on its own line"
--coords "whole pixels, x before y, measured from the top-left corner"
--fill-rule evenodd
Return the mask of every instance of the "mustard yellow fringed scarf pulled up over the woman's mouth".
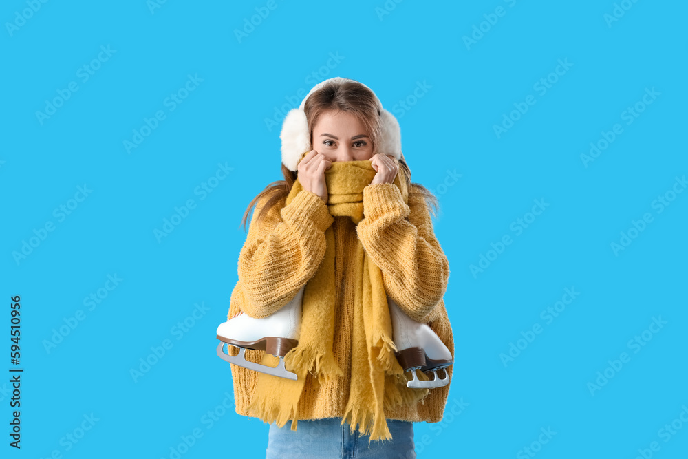
M 333 162 L 332 167 L 325 171 L 330 214 L 334 217 L 351 217 L 355 224 L 363 220 L 363 188 L 372 182 L 375 174 L 368 160 Z M 408 203 L 402 169 L 399 169 L 394 184 L 400 189 L 404 202 Z M 301 190 L 303 186 L 297 178 L 286 204 Z M 308 372 L 312 371 L 321 384 L 326 383 L 328 378 L 343 376 L 332 351 L 336 306 L 332 226 L 325 231 L 325 240 L 325 257 L 303 291 L 299 344 L 284 359 L 286 369 L 296 373 L 298 380 L 259 373 L 248 407 L 250 416 L 256 416 L 266 423 L 275 422 L 278 427 L 283 427 L 291 419 L 292 430 L 297 429 L 297 407 Z M 409 378 L 394 355 L 396 348 L 392 341 L 391 318 L 382 273 L 363 250 L 361 241 L 357 239 L 357 242 L 353 261 L 356 290 L 351 385 L 342 424 L 349 422 L 352 433 L 358 425 L 361 434 L 370 436 L 369 441 L 389 440 L 391 434 L 385 420 L 385 408 L 418 403 L 428 394 L 428 389 L 406 387 Z M 277 358 L 265 354 L 261 363 L 275 366 Z M 422 372 L 418 374 L 427 380 Z

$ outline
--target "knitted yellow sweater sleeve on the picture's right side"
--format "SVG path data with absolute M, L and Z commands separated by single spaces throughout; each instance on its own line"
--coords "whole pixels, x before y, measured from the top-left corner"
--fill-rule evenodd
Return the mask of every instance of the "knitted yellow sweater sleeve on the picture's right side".
M 449 261 L 435 237 L 422 196 L 402 198 L 395 184 L 363 189 L 363 215 L 356 232 L 380 267 L 387 295 L 419 322 L 427 322 L 449 280 Z

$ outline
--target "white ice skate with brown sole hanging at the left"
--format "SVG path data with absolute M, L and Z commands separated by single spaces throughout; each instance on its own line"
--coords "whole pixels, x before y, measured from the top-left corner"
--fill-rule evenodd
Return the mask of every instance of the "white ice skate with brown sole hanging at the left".
M 264 319 L 255 319 L 241 313 L 233 319 L 220 323 L 217 327 L 217 339 L 220 340 L 217 355 L 229 363 L 249 370 L 272 374 L 280 378 L 298 379 L 297 374 L 288 372 L 284 367 L 284 356 L 299 343 L 304 289 L 305 286 L 301 287 L 289 303 Z M 232 356 L 224 352 L 225 345 L 239 348 L 239 354 Z M 267 354 L 279 357 L 279 364 L 277 367 L 268 367 L 250 362 L 246 360 L 247 349 L 263 350 Z

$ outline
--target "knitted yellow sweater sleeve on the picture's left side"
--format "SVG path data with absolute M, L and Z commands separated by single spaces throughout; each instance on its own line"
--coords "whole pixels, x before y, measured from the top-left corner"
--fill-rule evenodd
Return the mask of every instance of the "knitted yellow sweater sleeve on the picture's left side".
M 260 225 L 253 211 L 238 261 L 241 310 L 249 317 L 268 317 L 286 305 L 325 257 L 325 230 L 334 222 L 327 204 L 301 190 L 286 206 L 273 206 Z

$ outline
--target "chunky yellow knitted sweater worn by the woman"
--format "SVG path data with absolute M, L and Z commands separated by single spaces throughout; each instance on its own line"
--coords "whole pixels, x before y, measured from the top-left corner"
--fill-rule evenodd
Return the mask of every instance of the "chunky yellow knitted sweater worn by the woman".
M 411 189 L 412 191 L 413 189 Z M 442 296 L 449 279 L 449 261 L 434 233 L 425 200 L 410 195 L 409 204 L 395 184 L 369 184 L 363 189 L 364 218 L 356 226 L 350 217 L 332 217 L 318 195 L 302 190 L 289 205 L 278 204 L 257 227 L 261 200 L 241 248 L 237 282 L 227 318 L 244 312 L 268 317 L 285 306 L 314 275 L 325 256 L 325 230 L 333 225 L 335 239 L 336 317 L 334 356 L 344 375 L 320 385 L 308 374 L 299 400 L 299 419 L 343 416 L 351 380 L 353 276 L 350 263 L 356 237 L 383 274 L 385 292 L 406 314 L 428 323 L 454 354 L 453 337 Z M 236 355 L 236 348 L 229 348 Z M 246 350 L 246 359 L 261 362 L 262 351 Z M 246 408 L 257 372 L 231 365 L 237 413 Z M 449 375 L 453 365 L 448 369 Z M 440 372 L 441 373 L 441 372 Z M 388 419 L 436 423 L 442 420 L 449 385 L 430 389 L 421 402 L 385 412 Z

